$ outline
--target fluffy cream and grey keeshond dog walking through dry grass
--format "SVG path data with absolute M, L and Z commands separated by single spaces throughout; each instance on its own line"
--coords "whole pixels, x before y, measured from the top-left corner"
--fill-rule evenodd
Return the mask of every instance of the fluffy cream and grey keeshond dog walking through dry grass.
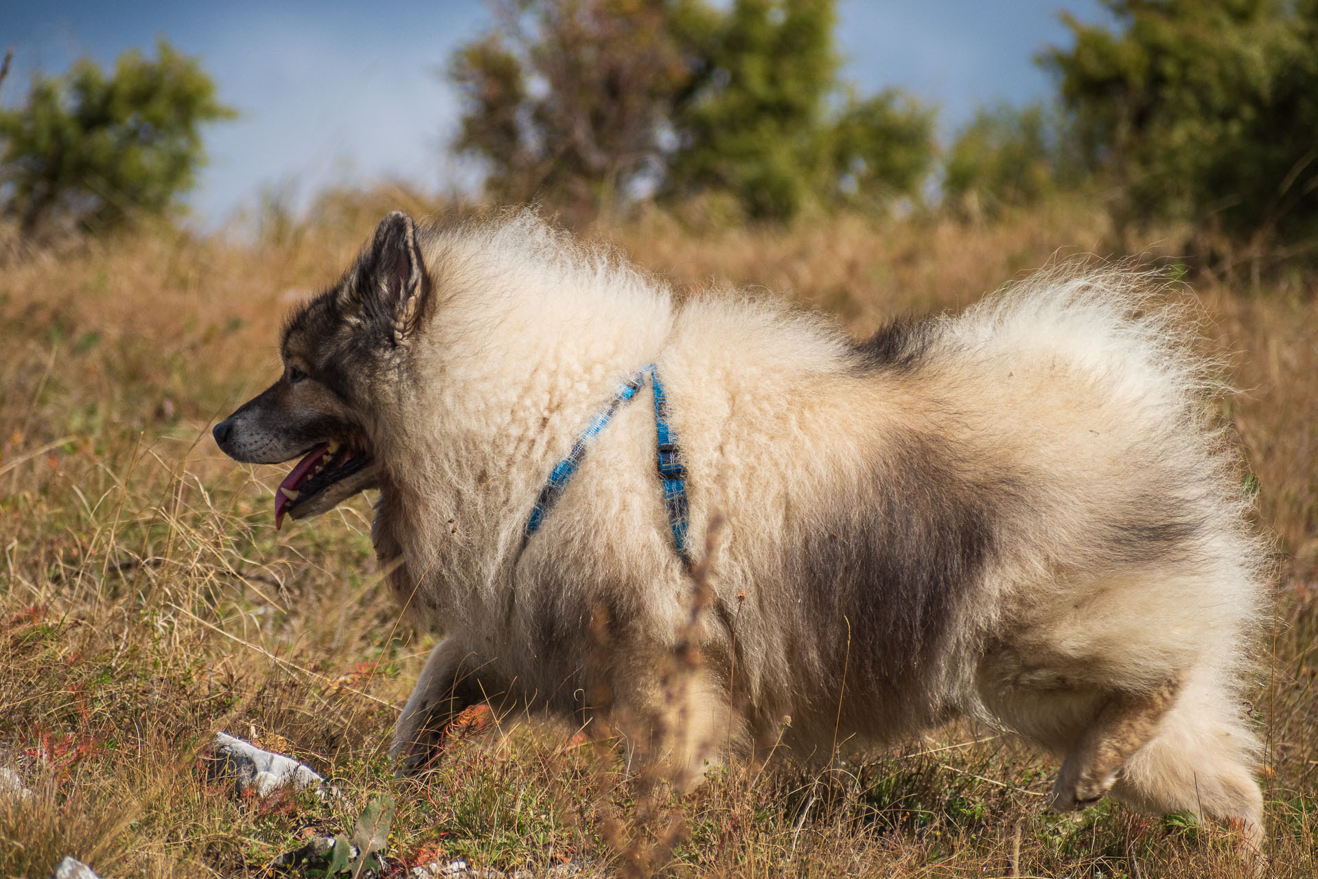
M 382 569 L 444 637 L 405 770 L 485 700 L 662 712 L 717 517 L 672 758 L 695 774 L 697 743 L 788 716 L 805 754 L 969 717 L 1061 758 L 1058 809 L 1111 793 L 1257 842 L 1268 552 L 1191 324 L 1137 274 L 1052 270 L 857 341 L 763 295 L 679 299 L 532 213 L 394 212 L 215 439 L 303 456 L 281 519 L 380 492 Z

